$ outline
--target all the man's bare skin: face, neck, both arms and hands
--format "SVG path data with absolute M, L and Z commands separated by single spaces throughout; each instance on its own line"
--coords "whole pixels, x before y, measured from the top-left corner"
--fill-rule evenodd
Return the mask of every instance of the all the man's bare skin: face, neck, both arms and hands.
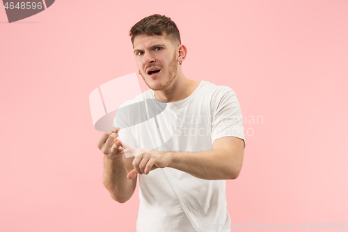
M 187 48 L 162 36 L 140 35 L 134 38 L 134 56 L 145 83 L 155 92 L 157 100 L 177 102 L 187 98 L 200 82 L 187 79 L 182 74 L 182 65 Z M 161 68 L 155 77 L 147 69 Z M 216 139 L 212 150 L 198 153 L 158 152 L 133 148 L 117 139 L 120 128 L 104 132 L 97 147 L 104 153 L 103 183 L 111 197 L 125 203 L 132 197 L 138 174 L 148 175 L 157 168 L 171 167 L 207 180 L 235 179 L 242 169 L 244 141 L 237 137 Z M 125 153 L 132 157 L 125 158 Z M 127 177 L 127 178 L 126 178 Z

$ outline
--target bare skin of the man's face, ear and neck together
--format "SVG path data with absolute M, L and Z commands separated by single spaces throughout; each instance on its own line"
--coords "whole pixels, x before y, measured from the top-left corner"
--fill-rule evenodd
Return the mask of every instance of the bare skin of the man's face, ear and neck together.
M 182 74 L 182 65 L 179 62 L 184 63 L 187 48 L 173 43 L 175 42 L 167 38 L 165 33 L 163 36 L 140 35 L 134 38 L 134 56 L 141 77 L 155 91 L 156 99 L 165 102 L 177 102 L 187 98 L 200 84 Z M 152 78 L 146 70 L 154 66 L 161 68 L 161 72 Z

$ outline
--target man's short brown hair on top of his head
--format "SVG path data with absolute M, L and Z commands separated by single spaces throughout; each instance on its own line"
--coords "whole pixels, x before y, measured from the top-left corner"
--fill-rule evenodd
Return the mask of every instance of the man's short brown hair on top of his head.
M 134 47 L 134 38 L 139 35 L 147 36 L 162 36 L 163 33 L 166 33 L 166 36 L 172 40 L 173 44 L 181 45 L 180 32 L 177 29 L 175 22 L 171 20 L 170 17 L 165 15 L 150 15 L 144 17 L 143 20 L 140 20 L 129 31 L 129 36 L 131 36 L 132 44 Z

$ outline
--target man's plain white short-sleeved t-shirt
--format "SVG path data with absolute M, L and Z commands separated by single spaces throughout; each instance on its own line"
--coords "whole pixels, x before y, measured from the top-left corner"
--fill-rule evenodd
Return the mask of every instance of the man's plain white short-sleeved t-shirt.
M 202 81 L 178 102 L 160 102 L 150 89 L 121 107 L 113 126 L 121 127 L 118 139 L 135 148 L 200 152 L 221 137 L 244 139 L 242 111 L 228 86 Z M 226 180 L 167 167 L 139 175 L 139 185 L 137 232 L 230 231 Z

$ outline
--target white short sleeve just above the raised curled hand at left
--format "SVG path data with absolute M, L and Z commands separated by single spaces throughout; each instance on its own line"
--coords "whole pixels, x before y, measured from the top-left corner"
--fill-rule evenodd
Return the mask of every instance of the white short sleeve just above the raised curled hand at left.
M 132 123 L 129 121 L 130 117 L 128 114 L 129 108 L 125 107 L 125 104 L 121 105 L 113 118 L 113 127 L 120 127 L 120 131 L 118 132 L 118 139 L 120 141 L 124 141 L 126 144 L 137 148 L 132 132 Z

